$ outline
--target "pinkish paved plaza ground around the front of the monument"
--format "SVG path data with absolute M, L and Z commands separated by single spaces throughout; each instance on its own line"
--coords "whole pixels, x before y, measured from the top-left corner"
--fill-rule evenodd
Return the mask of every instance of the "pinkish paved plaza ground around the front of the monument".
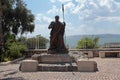
M 97 72 L 20 72 L 19 63 L 0 66 L 0 80 L 120 80 L 120 58 L 92 58 Z

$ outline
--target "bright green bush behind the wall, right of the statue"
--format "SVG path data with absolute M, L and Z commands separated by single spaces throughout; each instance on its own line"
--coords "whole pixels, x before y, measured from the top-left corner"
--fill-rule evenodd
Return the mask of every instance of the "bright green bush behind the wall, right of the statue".
M 78 41 L 78 49 L 93 49 L 98 48 L 99 37 L 83 37 Z

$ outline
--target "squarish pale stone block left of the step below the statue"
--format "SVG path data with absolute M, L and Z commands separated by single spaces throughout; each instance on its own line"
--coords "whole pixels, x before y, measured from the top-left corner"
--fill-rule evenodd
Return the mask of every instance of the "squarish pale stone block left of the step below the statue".
M 38 61 L 36 60 L 23 60 L 20 64 L 20 70 L 23 72 L 37 71 Z

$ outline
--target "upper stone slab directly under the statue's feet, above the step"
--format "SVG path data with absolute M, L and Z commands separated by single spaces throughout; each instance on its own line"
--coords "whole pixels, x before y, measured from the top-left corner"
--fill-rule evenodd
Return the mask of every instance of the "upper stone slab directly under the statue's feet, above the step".
M 33 60 L 39 63 L 71 63 L 72 59 L 68 54 L 35 54 L 32 56 Z

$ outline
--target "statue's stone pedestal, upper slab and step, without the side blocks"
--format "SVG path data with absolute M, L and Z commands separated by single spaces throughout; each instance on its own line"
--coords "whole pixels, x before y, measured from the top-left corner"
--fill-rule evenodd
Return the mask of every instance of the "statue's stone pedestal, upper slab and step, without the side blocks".
M 77 71 L 68 54 L 35 54 L 32 59 L 39 62 L 39 71 Z

